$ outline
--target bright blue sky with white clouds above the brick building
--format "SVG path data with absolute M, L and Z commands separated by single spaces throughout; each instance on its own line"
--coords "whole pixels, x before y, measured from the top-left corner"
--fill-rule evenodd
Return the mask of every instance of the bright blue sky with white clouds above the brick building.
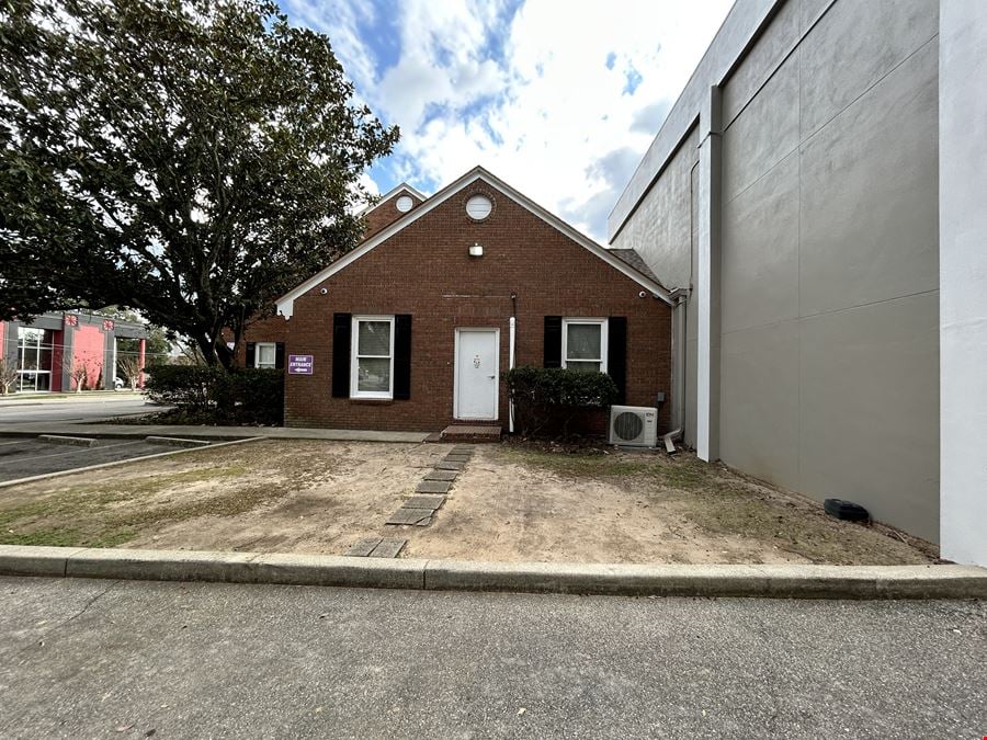
M 281 0 L 401 130 L 364 180 L 431 194 L 481 164 L 605 240 L 733 0 Z

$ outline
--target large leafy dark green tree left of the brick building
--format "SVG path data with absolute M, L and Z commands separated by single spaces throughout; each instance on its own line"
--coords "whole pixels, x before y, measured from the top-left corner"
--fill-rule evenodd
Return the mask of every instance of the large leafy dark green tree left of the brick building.
M 352 249 L 397 140 L 266 0 L 0 0 L 0 315 L 228 327 Z

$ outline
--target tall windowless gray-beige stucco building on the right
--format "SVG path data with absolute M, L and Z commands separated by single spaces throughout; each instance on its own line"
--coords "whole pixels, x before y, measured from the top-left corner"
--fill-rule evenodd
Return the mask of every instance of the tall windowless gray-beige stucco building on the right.
M 944 557 L 987 563 L 987 371 L 945 349 L 940 368 L 941 300 L 957 341 L 987 346 L 987 271 L 969 273 L 987 250 L 987 3 L 941 4 L 739 0 L 610 241 L 691 288 L 674 425 L 701 457 L 931 540 L 942 526 Z M 957 254 L 967 269 L 941 277 Z M 950 454 L 963 470 L 941 476 Z

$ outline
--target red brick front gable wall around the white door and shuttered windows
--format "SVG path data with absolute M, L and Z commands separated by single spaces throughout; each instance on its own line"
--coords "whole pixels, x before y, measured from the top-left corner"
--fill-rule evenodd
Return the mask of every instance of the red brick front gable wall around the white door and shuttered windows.
M 466 200 L 485 192 L 494 213 L 474 221 Z M 469 258 L 474 242 L 483 258 Z M 328 294 L 321 295 L 321 288 Z M 298 297 L 287 321 L 286 352 L 315 356 L 310 376 L 290 375 L 290 426 L 441 430 L 453 421 L 456 327 L 500 329 L 508 368 L 511 293 L 515 293 L 518 365 L 543 364 L 544 317 L 627 317 L 626 402 L 654 406 L 670 394 L 669 307 L 506 195 L 467 187 L 371 252 Z M 332 315 L 411 314 L 411 398 L 372 401 L 331 397 Z M 670 400 L 670 398 L 669 398 Z M 667 429 L 671 403 L 662 409 Z M 500 387 L 500 421 L 508 402 Z

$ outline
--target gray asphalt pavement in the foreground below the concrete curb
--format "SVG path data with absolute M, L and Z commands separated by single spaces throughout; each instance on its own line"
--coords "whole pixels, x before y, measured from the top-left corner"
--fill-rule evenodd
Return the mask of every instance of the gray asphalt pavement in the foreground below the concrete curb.
M 987 603 L 0 579 L 0 737 L 987 735 Z

